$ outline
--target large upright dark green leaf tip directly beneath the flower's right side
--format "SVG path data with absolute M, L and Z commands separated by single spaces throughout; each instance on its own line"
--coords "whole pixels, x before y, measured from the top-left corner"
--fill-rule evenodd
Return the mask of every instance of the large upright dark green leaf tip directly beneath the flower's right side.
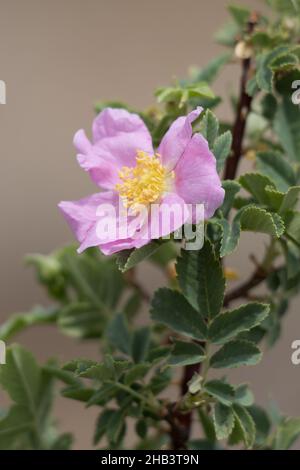
M 225 279 L 212 245 L 206 241 L 199 251 L 182 250 L 176 270 L 183 294 L 202 317 L 211 319 L 218 315 L 223 305 Z

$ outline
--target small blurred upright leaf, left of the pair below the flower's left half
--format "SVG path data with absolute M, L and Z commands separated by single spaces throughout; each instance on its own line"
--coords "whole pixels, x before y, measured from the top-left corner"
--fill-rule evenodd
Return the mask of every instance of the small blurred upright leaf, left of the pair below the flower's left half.
M 106 330 L 111 344 L 124 354 L 131 355 L 132 335 L 129 332 L 126 317 L 118 313 L 111 320 Z

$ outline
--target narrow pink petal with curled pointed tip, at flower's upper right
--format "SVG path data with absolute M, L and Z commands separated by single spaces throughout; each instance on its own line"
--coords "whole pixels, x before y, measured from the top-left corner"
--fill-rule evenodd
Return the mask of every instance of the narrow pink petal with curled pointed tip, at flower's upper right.
M 158 153 L 162 163 L 170 170 L 174 168 L 192 138 L 192 122 L 201 114 L 202 108 L 197 107 L 187 116 L 181 116 L 173 122 L 163 137 Z

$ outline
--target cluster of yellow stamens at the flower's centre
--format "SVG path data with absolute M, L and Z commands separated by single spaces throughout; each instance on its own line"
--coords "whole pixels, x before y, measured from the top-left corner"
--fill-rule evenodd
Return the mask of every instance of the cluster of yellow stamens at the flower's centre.
M 147 155 L 142 150 L 137 151 L 136 166 L 124 166 L 119 171 L 122 183 L 116 184 L 115 189 L 124 201 L 125 207 L 138 209 L 158 201 L 168 188 L 168 179 L 174 175 L 160 162 L 158 155 Z

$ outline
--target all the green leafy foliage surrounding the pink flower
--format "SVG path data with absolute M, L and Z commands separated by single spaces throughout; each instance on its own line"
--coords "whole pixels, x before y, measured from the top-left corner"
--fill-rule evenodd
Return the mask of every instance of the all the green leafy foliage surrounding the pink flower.
M 175 119 L 202 106 L 193 132 L 207 139 L 218 172 L 228 175 L 232 161 L 246 156 L 251 169 L 241 174 L 239 166 L 232 179 L 223 179 L 224 202 L 205 221 L 201 249 L 183 248 L 172 237 L 111 257 L 97 248 L 79 256 L 74 246 L 26 257 L 53 304 L 11 315 L 0 326 L 0 339 L 9 342 L 26 328 L 51 324 L 75 340 L 96 341 L 101 351 L 98 360 L 39 366 L 31 353 L 9 346 L 7 363 L 0 365 L 0 384 L 10 398 L 1 410 L 1 449 L 71 446 L 72 436 L 59 434 L 52 417 L 58 383 L 64 399 L 97 407 L 97 447 L 124 449 L 130 421 L 137 449 L 173 448 L 174 436 L 189 434 L 177 428 L 189 413 L 198 419 L 202 437 L 183 437 L 176 450 L 285 450 L 299 438 L 299 418 L 261 408 L 248 384 L 231 384 L 226 377 L 227 369 L 255 366 L 265 344 L 275 344 L 300 291 L 300 108 L 292 100 L 300 80 L 300 2 L 266 3 L 269 17 L 230 5 L 231 20 L 217 34 L 228 52 L 157 89 L 157 107 L 96 104 L 96 112 L 110 106 L 137 113 L 155 147 Z M 245 80 L 241 96 L 230 97 L 232 122 L 219 121 L 222 99 L 211 88 L 230 62 L 238 62 Z M 227 287 L 224 266 L 230 264 L 222 258 L 238 249 L 245 231 L 265 235 L 265 255 L 253 257 L 248 279 Z M 155 276 L 160 271 L 168 285 L 152 296 L 140 264 Z M 174 403 L 170 387 L 178 375 L 180 397 Z

